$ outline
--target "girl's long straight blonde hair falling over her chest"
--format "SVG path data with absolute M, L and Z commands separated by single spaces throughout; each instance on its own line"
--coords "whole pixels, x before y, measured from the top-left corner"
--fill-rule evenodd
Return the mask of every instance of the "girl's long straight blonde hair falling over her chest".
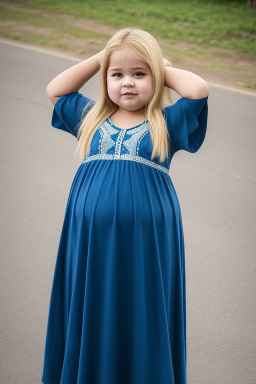
M 99 100 L 80 125 L 76 152 L 79 151 L 81 160 L 89 154 L 91 141 L 98 127 L 118 109 L 118 106 L 108 96 L 107 70 L 111 54 L 124 45 L 130 48 L 139 60 L 142 60 L 150 67 L 153 78 L 153 92 L 145 105 L 145 114 L 149 122 L 149 131 L 153 144 L 151 160 L 159 156 L 160 162 L 163 162 L 168 156 L 169 133 L 162 109 L 170 105 L 172 101 L 170 90 L 164 86 L 163 56 L 159 44 L 150 33 L 139 28 L 124 28 L 109 40 L 100 70 Z

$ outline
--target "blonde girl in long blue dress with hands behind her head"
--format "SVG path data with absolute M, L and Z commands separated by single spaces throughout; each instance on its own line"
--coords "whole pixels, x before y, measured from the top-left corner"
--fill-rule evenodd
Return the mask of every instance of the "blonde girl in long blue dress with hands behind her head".
M 101 69 L 97 102 L 78 93 Z M 168 89 L 181 98 L 170 104 Z M 81 164 L 52 285 L 42 382 L 185 384 L 182 219 L 169 167 L 204 141 L 209 88 L 137 28 L 47 87 Z

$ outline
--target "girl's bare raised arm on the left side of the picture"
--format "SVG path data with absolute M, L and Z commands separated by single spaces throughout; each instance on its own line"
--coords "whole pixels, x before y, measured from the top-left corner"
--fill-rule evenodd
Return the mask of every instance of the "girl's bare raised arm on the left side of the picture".
M 59 97 L 77 92 L 100 69 L 104 50 L 56 76 L 47 86 L 46 94 L 55 105 Z

